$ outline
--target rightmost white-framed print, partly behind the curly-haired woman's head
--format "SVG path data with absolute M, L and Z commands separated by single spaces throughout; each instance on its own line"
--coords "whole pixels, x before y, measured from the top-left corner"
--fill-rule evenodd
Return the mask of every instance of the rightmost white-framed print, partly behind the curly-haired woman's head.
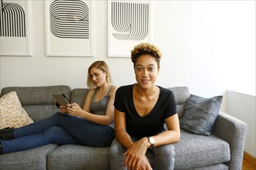
M 140 42 L 152 41 L 152 1 L 108 1 L 108 56 L 130 57 Z

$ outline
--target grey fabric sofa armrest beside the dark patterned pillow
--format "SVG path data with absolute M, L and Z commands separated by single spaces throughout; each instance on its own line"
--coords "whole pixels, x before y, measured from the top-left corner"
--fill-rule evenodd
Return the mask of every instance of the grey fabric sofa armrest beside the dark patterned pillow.
M 213 134 L 230 145 L 230 162 L 227 162 L 229 169 L 242 169 L 246 133 L 247 124 L 243 121 L 223 112 L 219 113 Z

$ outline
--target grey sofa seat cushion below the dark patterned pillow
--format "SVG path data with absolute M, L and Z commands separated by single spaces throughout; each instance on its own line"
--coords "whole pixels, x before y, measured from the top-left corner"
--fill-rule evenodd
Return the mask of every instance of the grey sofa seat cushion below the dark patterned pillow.
M 189 169 L 230 161 L 226 141 L 181 130 L 181 141 L 175 144 L 175 169 Z

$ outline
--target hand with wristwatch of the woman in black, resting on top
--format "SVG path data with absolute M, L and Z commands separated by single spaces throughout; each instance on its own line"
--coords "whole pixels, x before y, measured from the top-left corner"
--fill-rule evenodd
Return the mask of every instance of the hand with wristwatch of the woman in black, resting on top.
M 124 167 L 127 167 L 127 170 L 140 169 L 140 164 L 147 151 L 147 145 L 149 145 L 147 138 L 141 138 L 127 149 L 124 153 L 124 156 L 126 157 L 124 159 Z

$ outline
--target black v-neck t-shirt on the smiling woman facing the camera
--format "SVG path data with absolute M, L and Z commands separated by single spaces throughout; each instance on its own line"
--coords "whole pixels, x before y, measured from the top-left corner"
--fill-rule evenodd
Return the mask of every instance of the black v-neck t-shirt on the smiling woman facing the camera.
M 150 113 L 141 117 L 133 104 L 133 84 L 116 90 L 114 106 L 126 114 L 126 132 L 138 138 L 149 137 L 166 131 L 164 120 L 177 113 L 175 97 L 171 90 L 160 88 L 157 103 Z

